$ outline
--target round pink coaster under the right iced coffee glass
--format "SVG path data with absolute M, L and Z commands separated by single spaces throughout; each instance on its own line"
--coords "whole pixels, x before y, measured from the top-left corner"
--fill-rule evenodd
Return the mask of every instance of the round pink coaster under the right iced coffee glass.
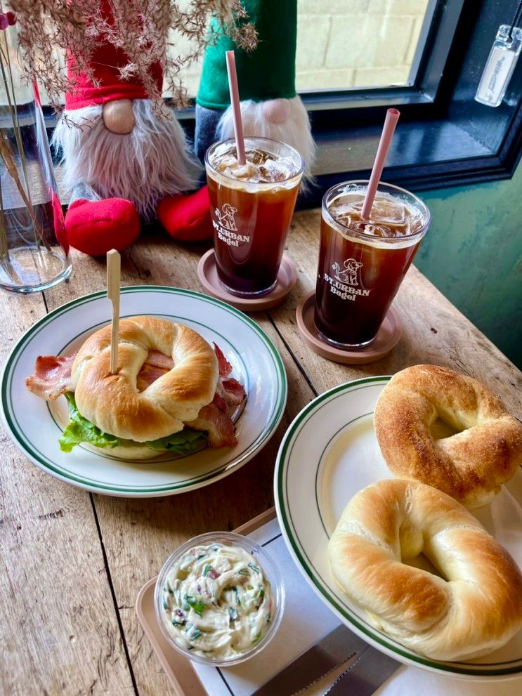
M 403 333 L 399 315 L 393 307 L 390 307 L 379 333 L 370 346 L 358 348 L 358 350 L 341 350 L 319 337 L 313 321 L 314 303 L 315 291 L 312 290 L 304 296 L 296 308 L 297 326 L 307 346 L 314 353 L 326 357 L 327 360 L 344 362 L 346 365 L 364 365 L 366 362 L 374 362 L 395 348 Z

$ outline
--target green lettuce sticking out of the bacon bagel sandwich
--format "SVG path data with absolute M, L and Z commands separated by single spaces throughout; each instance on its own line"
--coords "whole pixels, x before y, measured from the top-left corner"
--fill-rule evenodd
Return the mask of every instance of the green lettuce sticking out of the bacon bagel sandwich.
M 118 447 L 119 445 L 136 445 L 133 440 L 123 440 L 115 435 L 109 435 L 100 430 L 94 423 L 88 421 L 82 416 L 77 408 L 74 394 L 67 392 L 65 394 L 69 405 L 69 415 L 71 422 L 63 431 L 60 442 L 62 452 L 70 452 L 73 447 L 80 445 L 81 442 L 89 442 L 89 445 L 94 447 Z M 196 431 L 193 428 L 183 428 L 179 433 L 168 435 L 167 438 L 158 438 L 150 442 L 143 443 L 152 449 L 157 449 L 158 452 L 174 452 L 175 454 L 190 454 L 201 449 L 207 442 L 207 433 L 204 431 Z

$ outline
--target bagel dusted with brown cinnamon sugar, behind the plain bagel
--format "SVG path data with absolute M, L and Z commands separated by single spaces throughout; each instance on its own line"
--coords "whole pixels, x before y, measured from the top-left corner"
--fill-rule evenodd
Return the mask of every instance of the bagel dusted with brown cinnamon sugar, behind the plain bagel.
M 437 418 L 457 434 L 436 439 Z M 445 367 L 415 365 L 382 391 L 374 426 L 386 464 L 469 508 L 488 503 L 522 464 L 522 423 L 476 379 Z

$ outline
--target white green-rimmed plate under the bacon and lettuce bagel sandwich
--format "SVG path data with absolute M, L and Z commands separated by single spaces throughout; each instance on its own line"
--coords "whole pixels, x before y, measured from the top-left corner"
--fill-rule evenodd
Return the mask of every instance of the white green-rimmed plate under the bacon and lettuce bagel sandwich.
M 185 457 L 164 453 L 147 461 L 122 461 L 79 445 L 66 454 L 58 438 L 67 423 L 65 398 L 45 402 L 25 388 L 38 355 L 77 350 L 110 320 L 105 291 L 80 297 L 39 320 L 13 348 L 1 377 L 1 402 L 11 437 L 22 452 L 63 481 L 87 490 L 125 497 L 182 493 L 223 478 L 254 457 L 275 432 L 285 410 L 287 378 L 272 341 L 247 315 L 206 295 L 176 288 L 122 288 L 121 317 L 155 315 L 193 327 L 215 341 L 247 392 L 236 422 L 237 445 Z

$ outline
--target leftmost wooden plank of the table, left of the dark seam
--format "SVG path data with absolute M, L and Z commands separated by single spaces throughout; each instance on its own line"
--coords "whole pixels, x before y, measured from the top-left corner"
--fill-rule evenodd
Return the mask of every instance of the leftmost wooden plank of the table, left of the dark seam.
M 46 308 L 0 296 L 1 362 Z M 0 431 L 0 693 L 134 693 L 89 493 L 30 464 Z

